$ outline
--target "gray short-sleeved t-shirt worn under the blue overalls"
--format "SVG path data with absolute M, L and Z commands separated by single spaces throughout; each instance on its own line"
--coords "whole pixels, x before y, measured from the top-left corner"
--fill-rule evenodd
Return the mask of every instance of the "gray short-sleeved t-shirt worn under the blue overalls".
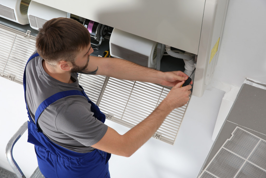
M 48 97 L 66 90 L 82 91 L 76 73 L 71 74 L 74 83 L 60 82 L 44 71 L 42 61 L 40 56 L 35 57 L 26 68 L 26 100 L 34 122 L 38 106 Z M 107 125 L 93 117 L 90 106 L 84 96 L 57 100 L 41 113 L 39 127 L 44 135 L 61 147 L 80 153 L 91 152 L 94 148 L 90 146 L 102 139 Z

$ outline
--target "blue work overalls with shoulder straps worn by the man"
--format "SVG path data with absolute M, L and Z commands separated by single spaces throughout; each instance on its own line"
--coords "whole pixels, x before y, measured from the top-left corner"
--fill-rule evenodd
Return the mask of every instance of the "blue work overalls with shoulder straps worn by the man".
M 32 55 L 28 62 L 36 56 L 39 56 L 39 54 L 36 53 Z M 26 67 L 24 70 L 23 86 L 26 102 Z M 80 88 L 82 87 L 80 86 Z M 44 100 L 35 112 L 35 123 L 37 123 L 40 114 L 47 106 L 61 98 L 71 95 L 81 95 L 86 97 L 88 102 L 91 104 L 91 111 L 94 113 L 93 116 L 102 122 L 105 121 L 105 115 L 99 110 L 97 105 L 90 101 L 82 88 L 82 92 L 79 90 L 63 91 Z M 35 124 L 32 120 L 27 102 L 26 108 L 30 119 L 30 121 L 28 121 L 28 142 L 35 145 L 39 169 L 45 177 L 110 177 L 108 170 L 108 160 L 111 156 L 110 153 L 106 153 L 98 149 L 89 153 L 78 153 L 53 143 L 40 131 L 38 124 Z

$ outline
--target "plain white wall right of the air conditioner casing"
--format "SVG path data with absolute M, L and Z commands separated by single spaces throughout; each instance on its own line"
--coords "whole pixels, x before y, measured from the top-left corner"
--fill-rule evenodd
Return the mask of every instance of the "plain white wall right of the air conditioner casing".
M 240 87 L 266 83 L 266 1 L 230 0 L 213 79 Z

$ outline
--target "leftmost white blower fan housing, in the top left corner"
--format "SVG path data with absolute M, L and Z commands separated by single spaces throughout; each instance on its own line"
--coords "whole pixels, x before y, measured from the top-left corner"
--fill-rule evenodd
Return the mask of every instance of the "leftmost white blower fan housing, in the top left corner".
M 22 25 L 29 24 L 28 7 L 31 0 L 0 0 L 0 17 Z

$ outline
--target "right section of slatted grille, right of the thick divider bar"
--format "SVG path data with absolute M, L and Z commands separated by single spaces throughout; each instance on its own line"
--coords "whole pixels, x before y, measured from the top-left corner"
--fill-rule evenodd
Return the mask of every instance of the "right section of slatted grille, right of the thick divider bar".
M 113 116 L 112 121 L 132 128 L 148 117 L 169 91 L 169 88 L 157 84 L 109 78 L 99 108 L 106 115 Z M 165 118 L 156 132 L 157 136 L 154 137 L 174 144 L 186 107 L 187 104 L 174 109 Z

